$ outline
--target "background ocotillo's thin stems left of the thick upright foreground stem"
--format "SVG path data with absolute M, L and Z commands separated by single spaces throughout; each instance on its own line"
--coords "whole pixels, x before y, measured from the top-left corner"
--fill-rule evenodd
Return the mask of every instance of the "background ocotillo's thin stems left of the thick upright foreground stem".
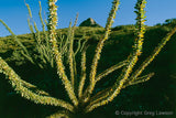
M 28 3 L 25 3 L 28 10 L 29 10 L 29 19 L 28 19 L 28 24 L 30 28 L 30 31 L 33 35 L 33 39 L 35 40 L 35 46 L 37 49 L 37 52 L 34 53 L 30 53 L 28 51 L 28 49 L 23 45 L 23 43 L 18 39 L 18 36 L 12 32 L 12 30 L 2 21 L 0 20 L 0 22 L 6 26 L 6 29 L 11 33 L 12 39 L 19 44 L 19 46 L 22 49 L 20 51 L 18 51 L 18 56 L 24 56 L 28 61 L 30 61 L 32 64 L 35 64 L 37 66 L 40 66 L 41 68 L 43 68 L 47 63 L 50 63 L 50 65 L 53 67 L 53 55 L 51 53 L 51 46 L 48 43 L 48 36 L 47 36 L 47 32 L 45 31 L 45 24 L 44 21 L 42 19 L 42 7 L 41 7 L 41 2 L 40 2 L 40 20 L 42 23 L 42 29 L 43 29 L 43 33 L 41 33 L 36 26 L 35 21 L 32 19 L 32 12 L 31 12 L 31 8 Z M 47 22 L 46 22 L 47 24 Z M 35 31 L 34 31 L 35 30 Z M 34 54 L 40 55 L 37 58 L 34 57 Z M 37 62 L 36 62 L 37 60 Z

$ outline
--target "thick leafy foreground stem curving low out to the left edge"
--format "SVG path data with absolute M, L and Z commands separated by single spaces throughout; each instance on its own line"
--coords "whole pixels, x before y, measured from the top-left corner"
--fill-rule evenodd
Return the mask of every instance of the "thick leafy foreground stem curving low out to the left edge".
M 56 99 L 50 96 L 43 96 L 43 95 L 41 96 L 38 94 L 29 90 L 23 85 L 24 84 L 28 86 L 34 86 L 34 85 L 23 83 L 23 81 L 19 77 L 19 75 L 1 57 L 0 57 L 0 72 L 7 75 L 8 79 L 12 84 L 12 87 L 14 87 L 14 90 L 19 92 L 22 97 L 32 100 L 36 104 L 59 106 L 68 109 L 69 111 L 74 111 L 74 107 L 64 100 Z

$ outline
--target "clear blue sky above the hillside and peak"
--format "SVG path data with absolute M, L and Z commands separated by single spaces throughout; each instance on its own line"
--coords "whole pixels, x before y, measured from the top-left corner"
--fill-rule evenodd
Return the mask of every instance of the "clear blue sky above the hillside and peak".
M 113 0 L 58 0 L 58 29 L 68 28 L 69 21 L 75 20 L 79 13 L 79 25 L 84 20 L 92 18 L 97 23 L 105 26 Z M 120 9 L 117 12 L 113 26 L 134 24 L 134 6 L 136 0 L 120 0 Z M 146 0 L 146 25 L 164 23 L 166 19 L 176 18 L 176 0 Z M 38 0 L 25 0 L 32 9 L 33 20 L 40 30 Z M 47 0 L 41 0 L 43 18 L 47 18 Z M 15 34 L 30 33 L 28 26 L 28 9 L 24 0 L 0 0 L 0 19 L 3 20 Z M 0 24 L 0 36 L 10 33 Z

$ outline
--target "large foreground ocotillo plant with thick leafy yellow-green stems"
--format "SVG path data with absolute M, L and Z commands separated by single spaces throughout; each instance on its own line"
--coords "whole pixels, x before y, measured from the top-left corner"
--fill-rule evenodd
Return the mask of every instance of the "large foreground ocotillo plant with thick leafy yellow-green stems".
M 69 77 L 66 74 L 66 65 L 64 64 L 63 58 L 63 50 L 61 50 L 61 45 L 58 45 L 58 41 L 56 39 L 56 25 L 57 25 L 57 6 L 55 4 L 57 0 L 48 0 L 48 41 L 50 45 L 52 47 L 53 57 L 56 63 L 56 69 L 59 78 L 63 82 L 63 85 L 65 86 L 65 89 L 67 92 L 68 97 L 70 98 L 72 103 L 54 98 L 50 96 L 48 93 L 37 89 L 36 86 L 26 83 L 25 81 L 21 79 L 20 76 L 0 57 L 0 71 L 4 75 L 7 75 L 7 78 L 10 81 L 13 88 L 21 94 L 22 97 L 32 100 L 36 104 L 42 105 L 52 105 L 57 107 L 63 107 L 64 110 L 56 112 L 55 115 L 52 115 L 50 117 L 66 117 L 69 118 L 74 115 L 78 114 L 87 114 L 94 110 L 97 107 L 103 106 L 114 99 L 114 97 L 118 96 L 118 94 L 122 90 L 122 88 L 125 88 L 130 85 L 135 85 L 139 83 L 143 83 L 145 81 L 148 81 L 154 74 L 147 74 L 140 76 L 144 68 L 155 58 L 155 56 L 160 53 L 162 47 L 166 44 L 166 42 L 170 39 L 170 36 L 176 32 L 176 28 L 172 30 L 162 41 L 158 43 L 158 45 L 155 47 L 155 50 L 152 52 L 152 54 L 146 57 L 146 60 L 136 68 L 136 71 L 133 71 L 134 66 L 138 63 L 139 56 L 142 54 L 142 47 L 144 42 L 144 33 L 145 33 L 145 0 L 138 0 L 135 6 L 135 13 L 136 13 L 136 33 L 134 37 L 134 44 L 133 44 L 133 51 L 131 54 L 127 57 L 125 61 L 120 62 L 119 64 L 116 64 L 111 66 L 110 68 L 107 68 L 105 72 L 97 74 L 97 67 L 98 62 L 100 60 L 101 51 L 103 47 L 105 42 L 108 40 L 108 36 L 110 34 L 111 25 L 113 23 L 113 20 L 116 18 L 116 12 L 119 8 L 120 0 L 113 0 L 112 2 L 112 9 L 109 13 L 109 18 L 107 20 L 106 24 L 106 32 L 102 36 L 102 39 L 99 40 L 97 49 L 95 51 L 95 56 L 92 58 L 92 64 L 90 67 L 90 72 L 86 69 L 86 51 L 88 50 L 87 46 L 84 46 L 81 50 L 81 72 L 80 76 L 77 75 L 76 69 L 76 58 L 74 46 L 73 46 L 73 40 L 69 40 L 68 42 L 68 49 L 67 49 L 67 58 L 68 58 L 68 69 L 69 69 Z M 74 28 L 73 28 L 74 29 Z M 74 32 L 72 30 L 70 36 L 73 36 Z M 72 37 L 70 37 L 72 39 Z M 100 90 L 97 94 L 92 94 L 96 84 L 107 76 L 108 74 L 114 72 L 116 69 L 123 67 L 121 74 L 117 78 L 117 82 L 113 86 L 110 86 L 107 89 Z M 87 78 L 87 74 L 89 74 L 89 83 L 88 86 L 85 86 L 85 81 Z M 77 79 L 78 77 L 79 81 Z M 36 88 L 36 90 L 32 90 L 32 88 Z

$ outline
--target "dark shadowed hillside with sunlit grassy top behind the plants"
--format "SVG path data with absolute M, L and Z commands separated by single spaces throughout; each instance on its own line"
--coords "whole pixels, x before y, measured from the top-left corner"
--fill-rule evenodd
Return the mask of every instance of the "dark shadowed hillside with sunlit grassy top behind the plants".
M 67 29 L 58 30 L 63 34 L 66 34 Z M 170 30 L 170 25 L 157 25 L 157 26 L 148 26 L 145 33 L 145 43 L 143 55 L 141 61 L 144 57 L 148 56 L 153 51 L 154 46 L 166 35 L 166 33 Z M 103 33 L 102 28 L 77 28 L 76 39 L 81 37 L 81 35 L 86 32 L 86 37 L 89 39 L 89 51 L 88 51 L 88 64 L 91 64 L 91 58 L 94 55 L 94 49 L 96 47 L 98 39 L 101 37 Z M 18 35 L 19 39 L 26 46 L 34 46 L 33 40 L 30 34 Z M 102 72 L 107 67 L 118 63 L 119 61 L 124 60 L 128 54 L 132 50 L 134 37 L 134 25 L 122 25 L 112 29 L 112 33 L 110 35 L 109 41 L 106 42 L 106 46 L 102 52 L 102 56 L 100 60 L 100 64 L 98 67 L 98 72 Z M 136 86 L 130 86 L 125 88 L 114 100 L 113 103 L 98 108 L 88 115 L 97 118 L 97 116 L 101 118 L 116 118 L 116 110 L 124 110 L 124 111 L 144 111 L 144 110 L 164 110 L 164 111 L 176 111 L 176 78 L 173 76 L 176 74 L 176 35 L 168 42 L 168 44 L 163 49 L 162 53 L 156 57 L 156 60 L 147 67 L 148 72 L 154 72 L 155 76 L 151 78 L 151 81 L 139 84 Z M 38 86 L 47 86 L 44 89 L 52 87 L 55 89 L 57 85 L 46 85 L 47 83 L 53 83 L 53 79 L 47 81 L 46 78 L 53 76 L 52 74 L 43 75 L 45 72 L 40 71 L 35 66 L 31 65 L 26 61 L 23 61 L 21 65 L 16 65 L 15 58 L 13 58 L 12 52 L 18 49 L 18 45 L 13 42 L 11 36 L 0 37 L 0 56 L 6 58 L 8 63 L 19 73 L 24 79 L 36 84 L 40 82 Z M 28 69 L 26 69 L 28 67 Z M 31 67 L 31 68 L 30 68 Z M 51 72 L 53 73 L 53 72 Z M 119 73 L 119 72 L 117 72 Z M 106 87 L 108 84 L 111 85 L 116 81 L 118 74 L 112 73 L 97 85 L 97 89 L 101 89 Z M 1 75 L 2 76 L 2 75 Z M 47 77 L 46 77 L 47 76 Z M 101 85 L 101 87 L 100 87 Z M 41 105 L 35 105 L 33 103 L 26 101 L 25 99 L 19 97 L 18 95 L 12 93 L 11 86 L 8 84 L 3 77 L 0 78 L 0 115 L 6 116 L 8 118 L 12 118 L 12 116 L 22 117 L 22 118 L 34 118 L 38 116 L 47 116 L 51 112 L 54 112 L 55 109 L 52 107 L 44 107 Z M 52 92 L 52 90 L 51 90 Z M 57 95 L 58 90 L 55 92 Z M 55 94 L 53 94 L 55 96 Z M 56 96 L 58 97 L 58 96 Z M 24 109 L 25 107 L 25 109 Z M 176 116 L 176 115 L 174 115 Z M 169 116 L 169 118 L 174 118 L 174 116 Z M 118 116 L 120 118 L 124 118 L 124 116 Z M 143 116 L 148 118 L 150 116 Z M 165 118 L 166 116 L 157 116 L 157 118 Z

